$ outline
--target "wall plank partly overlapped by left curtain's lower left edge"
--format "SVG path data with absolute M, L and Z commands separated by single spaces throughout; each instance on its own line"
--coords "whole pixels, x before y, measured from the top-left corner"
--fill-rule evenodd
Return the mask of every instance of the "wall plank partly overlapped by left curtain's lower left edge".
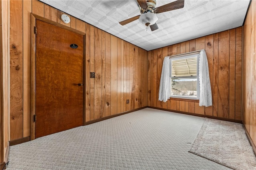
M 157 57 L 157 64 L 156 64 L 156 69 L 157 69 L 157 72 L 156 72 L 156 107 L 160 107 L 162 108 L 162 103 L 163 102 L 160 102 L 158 100 L 159 96 L 159 86 L 160 86 L 160 78 L 161 78 L 161 74 L 162 74 L 162 65 L 163 65 L 163 48 L 159 48 L 156 50 L 156 57 Z M 168 70 L 167 70 L 168 71 Z

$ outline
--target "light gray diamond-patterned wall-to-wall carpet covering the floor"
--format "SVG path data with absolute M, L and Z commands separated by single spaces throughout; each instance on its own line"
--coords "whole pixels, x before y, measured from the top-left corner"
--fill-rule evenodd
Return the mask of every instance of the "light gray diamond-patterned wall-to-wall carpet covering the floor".
M 142 109 L 10 147 L 7 170 L 225 170 L 188 152 L 204 118 Z

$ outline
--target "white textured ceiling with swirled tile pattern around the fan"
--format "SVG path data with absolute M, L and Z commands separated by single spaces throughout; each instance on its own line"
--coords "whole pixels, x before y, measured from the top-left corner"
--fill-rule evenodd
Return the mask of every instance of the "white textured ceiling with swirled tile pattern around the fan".
M 40 0 L 147 51 L 242 26 L 250 0 L 185 0 L 184 8 L 157 14 L 156 31 L 138 20 L 136 0 Z M 157 0 L 156 7 L 175 0 Z

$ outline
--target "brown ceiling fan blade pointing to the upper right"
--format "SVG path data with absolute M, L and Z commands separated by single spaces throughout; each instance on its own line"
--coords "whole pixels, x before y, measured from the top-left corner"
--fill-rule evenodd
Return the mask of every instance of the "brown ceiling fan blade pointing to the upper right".
M 169 4 L 165 4 L 163 6 L 159 6 L 159 7 L 155 8 L 154 12 L 156 14 L 158 14 L 158 13 L 162 13 L 162 12 L 166 12 L 166 11 L 177 10 L 177 9 L 180 9 L 183 7 L 184 7 L 184 0 L 177 0 L 177 1 L 171 2 Z

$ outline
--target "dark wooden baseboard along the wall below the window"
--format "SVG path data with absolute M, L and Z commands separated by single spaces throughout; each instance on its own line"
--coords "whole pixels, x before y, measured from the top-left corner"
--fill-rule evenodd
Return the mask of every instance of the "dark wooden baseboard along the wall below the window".
M 175 113 L 182 113 L 182 114 L 185 114 L 185 115 L 193 115 L 193 116 L 198 116 L 198 117 L 207 117 L 207 118 L 210 118 L 210 119 L 231 121 L 231 122 L 241 123 L 241 124 L 242 124 L 242 121 L 241 121 L 241 120 L 233 120 L 233 119 L 227 119 L 227 118 L 222 118 L 222 117 L 214 117 L 214 116 L 209 116 L 209 115 L 200 115 L 200 114 L 196 114 L 196 113 L 188 113 L 188 112 L 183 112 L 183 111 L 176 111 L 176 110 L 170 110 L 170 109 L 163 109 L 163 108 L 152 107 L 152 106 L 148 106 L 148 108 L 158 109 L 158 110 L 164 110 L 164 111 L 171 111 L 171 112 L 175 112 Z

